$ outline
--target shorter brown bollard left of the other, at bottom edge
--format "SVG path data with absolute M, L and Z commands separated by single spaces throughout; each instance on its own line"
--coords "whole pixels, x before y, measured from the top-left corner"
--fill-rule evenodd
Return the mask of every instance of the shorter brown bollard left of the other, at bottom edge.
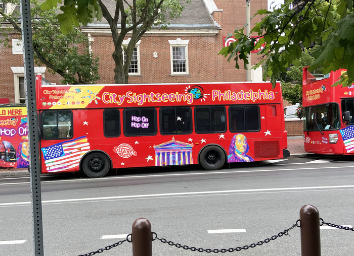
M 132 256 L 152 256 L 152 233 L 150 221 L 136 219 L 131 227 Z

